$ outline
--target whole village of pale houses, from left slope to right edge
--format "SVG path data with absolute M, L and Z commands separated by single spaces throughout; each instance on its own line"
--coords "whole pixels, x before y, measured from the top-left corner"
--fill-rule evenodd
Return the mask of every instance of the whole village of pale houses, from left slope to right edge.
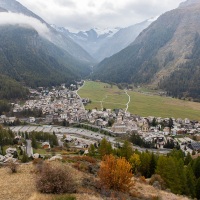
M 89 99 L 81 99 L 74 89 L 77 89 L 74 85 L 71 85 L 70 89 L 62 85 L 51 90 L 31 90 L 30 100 L 22 106 L 14 104 L 13 112 L 40 110 L 43 124 L 53 124 L 55 121 L 66 121 L 69 124 L 84 123 L 114 136 L 137 132 L 147 142 L 156 141 L 159 147 L 166 143 L 168 135 L 200 133 L 200 122 L 189 119 L 141 117 L 121 109 L 87 111 L 84 105 Z M 5 116 L 1 116 L 0 122 L 3 120 L 13 121 L 15 118 L 5 119 Z M 30 117 L 28 122 L 35 123 L 37 119 Z

